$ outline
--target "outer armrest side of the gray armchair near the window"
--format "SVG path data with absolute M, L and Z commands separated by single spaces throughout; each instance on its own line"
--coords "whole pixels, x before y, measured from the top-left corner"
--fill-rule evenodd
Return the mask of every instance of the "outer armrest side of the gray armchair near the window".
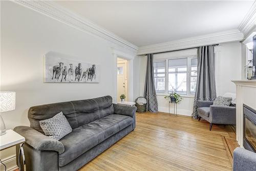
M 217 124 L 236 124 L 236 107 L 210 105 L 209 122 Z

